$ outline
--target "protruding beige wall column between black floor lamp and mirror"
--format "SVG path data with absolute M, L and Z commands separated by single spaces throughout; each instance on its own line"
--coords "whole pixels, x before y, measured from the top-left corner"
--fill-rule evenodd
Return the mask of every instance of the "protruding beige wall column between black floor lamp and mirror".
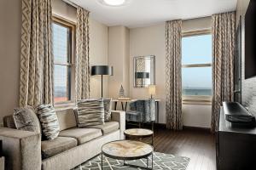
M 108 27 L 108 64 L 113 65 L 113 77 L 108 81 L 108 97 L 119 97 L 123 85 L 129 95 L 129 29 L 125 26 Z

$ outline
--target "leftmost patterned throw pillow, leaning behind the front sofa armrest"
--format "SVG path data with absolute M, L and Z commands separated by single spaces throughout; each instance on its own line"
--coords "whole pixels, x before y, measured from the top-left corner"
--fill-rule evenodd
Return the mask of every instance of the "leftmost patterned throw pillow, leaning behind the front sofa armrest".
M 16 108 L 13 117 L 17 129 L 41 133 L 40 122 L 32 106 Z

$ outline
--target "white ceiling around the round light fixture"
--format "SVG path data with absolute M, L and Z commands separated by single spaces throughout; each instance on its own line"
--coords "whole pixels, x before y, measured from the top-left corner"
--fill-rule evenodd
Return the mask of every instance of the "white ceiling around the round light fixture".
M 110 7 L 98 0 L 69 0 L 90 11 L 90 16 L 107 26 L 129 28 L 152 26 L 166 20 L 187 20 L 236 10 L 237 0 L 128 0 Z

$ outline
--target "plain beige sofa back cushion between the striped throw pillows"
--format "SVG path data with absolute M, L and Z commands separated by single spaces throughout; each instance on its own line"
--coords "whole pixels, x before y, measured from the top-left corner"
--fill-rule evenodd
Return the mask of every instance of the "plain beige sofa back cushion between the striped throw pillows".
M 73 109 L 56 110 L 59 120 L 60 131 L 77 127 L 76 117 Z

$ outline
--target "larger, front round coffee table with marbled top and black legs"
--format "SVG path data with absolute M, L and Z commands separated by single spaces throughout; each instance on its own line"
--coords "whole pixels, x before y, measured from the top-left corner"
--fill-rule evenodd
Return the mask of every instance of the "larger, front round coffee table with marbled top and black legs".
M 103 155 L 112 159 L 123 160 L 125 166 L 153 169 L 153 147 L 150 144 L 134 140 L 117 140 L 102 145 L 102 169 Z M 151 167 L 148 167 L 148 157 L 151 156 Z M 126 160 L 147 159 L 147 167 L 125 163 Z

